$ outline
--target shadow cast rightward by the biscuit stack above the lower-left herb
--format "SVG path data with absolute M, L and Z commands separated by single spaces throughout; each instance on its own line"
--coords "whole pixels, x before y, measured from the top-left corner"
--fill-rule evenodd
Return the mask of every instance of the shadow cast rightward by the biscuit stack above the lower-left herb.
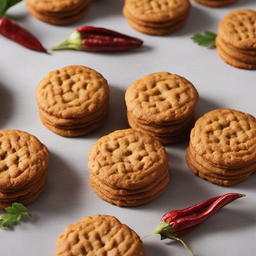
M 82 200 L 78 194 L 81 187 L 86 186 L 85 181 L 85 177 L 79 177 L 76 170 L 65 159 L 52 153 L 50 148 L 47 186 L 35 203 L 29 205 L 29 209 L 49 211 L 51 215 L 60 215 L 60 212 L 61 215 L 68 215 L 74 211 L 75 205 L 79 205 L 79 200 Z

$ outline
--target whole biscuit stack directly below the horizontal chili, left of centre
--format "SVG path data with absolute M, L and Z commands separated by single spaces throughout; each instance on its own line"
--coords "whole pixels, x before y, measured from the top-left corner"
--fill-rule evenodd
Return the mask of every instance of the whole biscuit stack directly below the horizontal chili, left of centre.
M 91 68 L 64 67 L 40 81 L 36 101 L 42 123 L 49 130 L 65 137 L 82 136 L 107 120 L 108 82 Z

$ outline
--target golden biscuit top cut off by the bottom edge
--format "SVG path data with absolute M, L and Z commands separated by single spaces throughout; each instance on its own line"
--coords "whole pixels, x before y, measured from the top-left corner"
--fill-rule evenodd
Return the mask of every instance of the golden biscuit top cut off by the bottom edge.
M 140 237 L 115 217 L 84 217 L 57 240 L 55 256 L 145 256 Z

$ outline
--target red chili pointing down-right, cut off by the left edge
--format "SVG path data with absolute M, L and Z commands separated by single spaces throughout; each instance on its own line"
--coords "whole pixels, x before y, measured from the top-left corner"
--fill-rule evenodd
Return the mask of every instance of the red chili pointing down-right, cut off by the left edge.
M 0 18 L 0 34 L 33 51 L 46 52 L 35 36 L 6 17 Z

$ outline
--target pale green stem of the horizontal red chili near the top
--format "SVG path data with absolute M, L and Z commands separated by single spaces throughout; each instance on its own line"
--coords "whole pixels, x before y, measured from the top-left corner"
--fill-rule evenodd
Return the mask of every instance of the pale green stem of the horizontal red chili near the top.
M 68 36 L 67 40 L 61 44 L 53 46 L 51 49 L 53 51 L 66 49 L 81 51 L 83 49 L 83 38 L 78 31 L 74 31 L 70 36 Z

